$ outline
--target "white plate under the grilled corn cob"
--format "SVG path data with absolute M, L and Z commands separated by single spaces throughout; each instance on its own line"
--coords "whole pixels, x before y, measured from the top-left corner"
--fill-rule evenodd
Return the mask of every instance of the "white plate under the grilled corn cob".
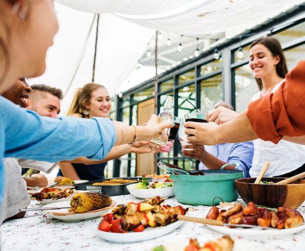
M 113 207 L 116 202 L 113 200 L 109 207 Z M 49 205 L 44 205 L 44 207 L 50 207 Z M 70 201 L 62 201 L 53 203 L 52 207 L 70 207 Z M 56 209 L 56 210 L 45 210 L 42 211 L 49 217 L 59 219 L 66 222 L 78 222 L 83 220 L 91 220 L 100 217 L 102 214 L 109 212 L 112 209 L 97 209 L 88 212 L 69 212 L 69 209 Z

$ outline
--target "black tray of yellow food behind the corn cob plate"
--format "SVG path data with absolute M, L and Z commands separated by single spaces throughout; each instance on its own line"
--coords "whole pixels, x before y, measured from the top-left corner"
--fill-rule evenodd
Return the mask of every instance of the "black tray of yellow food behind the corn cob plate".
M 129 184 L 133 183 L 127 183 L 127 184 L 121 184 L 121 185 L 92 185 L 95 182 L 103 182 L 104 180 L 110 180 L 110 179 L 129 179 L 134 180 L 133 183 L 142 182 L 142 177 L 113 177 L 113 178 L 107 178 L 107 179 L 97 179 L 92 180 L 84 183 L 75 184 L 76 190 L 88 190 L 88 191 L 94 191 L 94 192 L 100 192 L 107 194 L 109 196 L 114 195 L 123 195 L 123 194 L 129 194 L 127 190 L 127 186 Z M 148 182 L 152 181 L 152 178 L 148 178 Z

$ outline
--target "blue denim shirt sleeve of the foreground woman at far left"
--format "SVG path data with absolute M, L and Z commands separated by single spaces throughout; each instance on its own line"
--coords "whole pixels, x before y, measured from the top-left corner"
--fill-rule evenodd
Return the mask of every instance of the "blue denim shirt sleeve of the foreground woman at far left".
M 76 157 L 100 160 L 114 145 L 108 118 L 42 117 L 0 96 L 0 202 L 4 192 L 3 157 L 49 162 Z

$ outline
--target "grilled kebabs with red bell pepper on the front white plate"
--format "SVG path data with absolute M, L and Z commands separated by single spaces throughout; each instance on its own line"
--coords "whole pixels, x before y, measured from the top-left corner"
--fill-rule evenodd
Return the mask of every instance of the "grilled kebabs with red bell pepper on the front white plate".
M 177 221 L 177 215 L 185 215 L 188 208 L 161 205 L 160 196 L 141 202 L 120 204 L 111 212 L 103 215 L 99 230 L 106 232 L 142 232 L 147 227 L 166 226 Z

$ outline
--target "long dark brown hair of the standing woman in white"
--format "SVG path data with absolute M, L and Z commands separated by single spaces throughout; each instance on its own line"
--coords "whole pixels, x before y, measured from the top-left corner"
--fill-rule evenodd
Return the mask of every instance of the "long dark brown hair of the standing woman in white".
M 270 52 L 273 57 L 280 56 L 280 62 L 276 65 L 276 73 L 278 76 L 285 78 L 288 73 L 288 68 L 286 64 L 286 58 L 284 51 L 278 39 L 273 37 L 265 37 L 256 39 L 250 45 L 250 49 L 256 44 L 263 44 Z M 261 78 L 255 77 L 258 88 L 260 91 L 263 89 L 263 82 Z

